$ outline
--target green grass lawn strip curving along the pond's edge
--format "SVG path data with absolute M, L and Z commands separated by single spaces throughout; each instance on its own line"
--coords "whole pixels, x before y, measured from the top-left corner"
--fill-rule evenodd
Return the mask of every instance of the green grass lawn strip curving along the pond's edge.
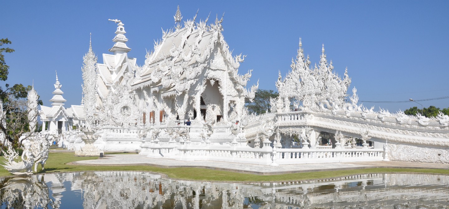
M 169 178 L 196 180 L 196 181 L 220 181 L 220 182 L 281 182 L 299 181 L 322 178 L 335 178 L 340 176 L 364 174 L 364 173 L 432 173 L 449 175 L 446 169 L 397 169 L 397 168 L 372 168 L 339 170 L 338 172 L 321 171 L 309 173 L 288 173 L 281 175 L 261 176 L 255 174 L 234 173 L 213 169 L 198 168 L 159 168 L 154 166 L 89 166 L 66 165 L 66 163 L 78 160 L 94 160 L 98 157 L 77 157 L 73 152 L 50 152 L 45 171 L 38 167 L 37 173 L 63 173 L 80 171 L 145 171 L 166 174 Z M 107 154 L 133 154 L 133 153 L 106 153 Z M 0 177 L 11 176 L 6 169 L 0 168 Z

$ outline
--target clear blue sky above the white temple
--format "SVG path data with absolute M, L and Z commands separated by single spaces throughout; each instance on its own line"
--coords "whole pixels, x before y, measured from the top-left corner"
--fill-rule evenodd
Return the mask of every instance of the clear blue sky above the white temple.
M 58 71 L 66 106 L 81 101 L 81 67 L 89 47 L 102 63 L 113 45 L 116 24 L 125 24 L 128 56 L 143 65 L 145 49 L 174 27 L 179 4 L 183 20 L 211 22 L 225 13 L 223 34 L 233 54 L 247 55 L 239 68 L 254 69 L 249 85 L 276 90 L 278 71 L 285 75 L 302 37 L 304 53 L 319 62 L 321 44 L 335 71 L 345 67 L 361 101 L 406 101 L 449 96 L 449 1 L 2 1 L 0 38 L 13 42 L 6 54 L 6 83 L 31 84 L 50 106 Z M 4 86 L 5 82 L 0 82 Z M 351 90 L 348 91 L 351 93 Z M 360 103 L 360 102 L 359 102 Z M 366 103 L 390 111 L 418 106 Z M 420 102 L 449 107 L 449 99 Z M 379 110 L 376 107 L 376 110 Z

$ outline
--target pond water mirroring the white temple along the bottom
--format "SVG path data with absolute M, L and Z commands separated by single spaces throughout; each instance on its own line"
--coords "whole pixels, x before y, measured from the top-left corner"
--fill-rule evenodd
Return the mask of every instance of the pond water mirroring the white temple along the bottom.
M 220 183 L 143 172 L 81 172 L 2 178 L 0 188 L 1 209 L 449 208 L 449 176 L 430 174 Z

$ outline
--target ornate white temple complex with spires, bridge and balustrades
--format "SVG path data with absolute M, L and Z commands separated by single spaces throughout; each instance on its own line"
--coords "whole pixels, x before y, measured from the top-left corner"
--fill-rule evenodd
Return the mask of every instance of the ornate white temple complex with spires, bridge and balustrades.
M 259 165 L 449 163 L 449 116 L 374 111 L 358 104 L 355 88 L 345 102 L 348 70 L 343 78 L 334 71 L 324 45 L 319 64 L 311 66 L 300 41 L 291 71 L 273 81 L 279 97 L 271 100 L 270 112 L 248 114 L 245 100 L 254 98 L 258 84 L 247 86 L 251 71 L 239 74 L 245 56 L 229 51 L 223 18 L 209 24 L 209 17 L 196 17 L 182 26 L 178 8 L 176 27 L 163 31 L 143 66 L 128 57 L 123 22 L 110 20 L 118 23 L 113 54 L 97 63 L 90 46 L 84 56 L 84 106 L 65 109 L 57 81 L 52 107 L 41 107 L 49 129 L 81 121 L 101 128 L 95 145 L 102 151 L 137 149 L 150 158 Z

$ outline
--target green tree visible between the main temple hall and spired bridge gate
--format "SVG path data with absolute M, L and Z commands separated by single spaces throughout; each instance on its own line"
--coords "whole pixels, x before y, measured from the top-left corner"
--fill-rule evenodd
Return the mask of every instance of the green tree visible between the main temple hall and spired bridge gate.
M 273 90 L 259 89 L 254 96 L 253 102 L 246 101 L 245 105 L 250 113 L 263 114 L 270 109 L 270 98 L 277 98 L 279 93 Z

